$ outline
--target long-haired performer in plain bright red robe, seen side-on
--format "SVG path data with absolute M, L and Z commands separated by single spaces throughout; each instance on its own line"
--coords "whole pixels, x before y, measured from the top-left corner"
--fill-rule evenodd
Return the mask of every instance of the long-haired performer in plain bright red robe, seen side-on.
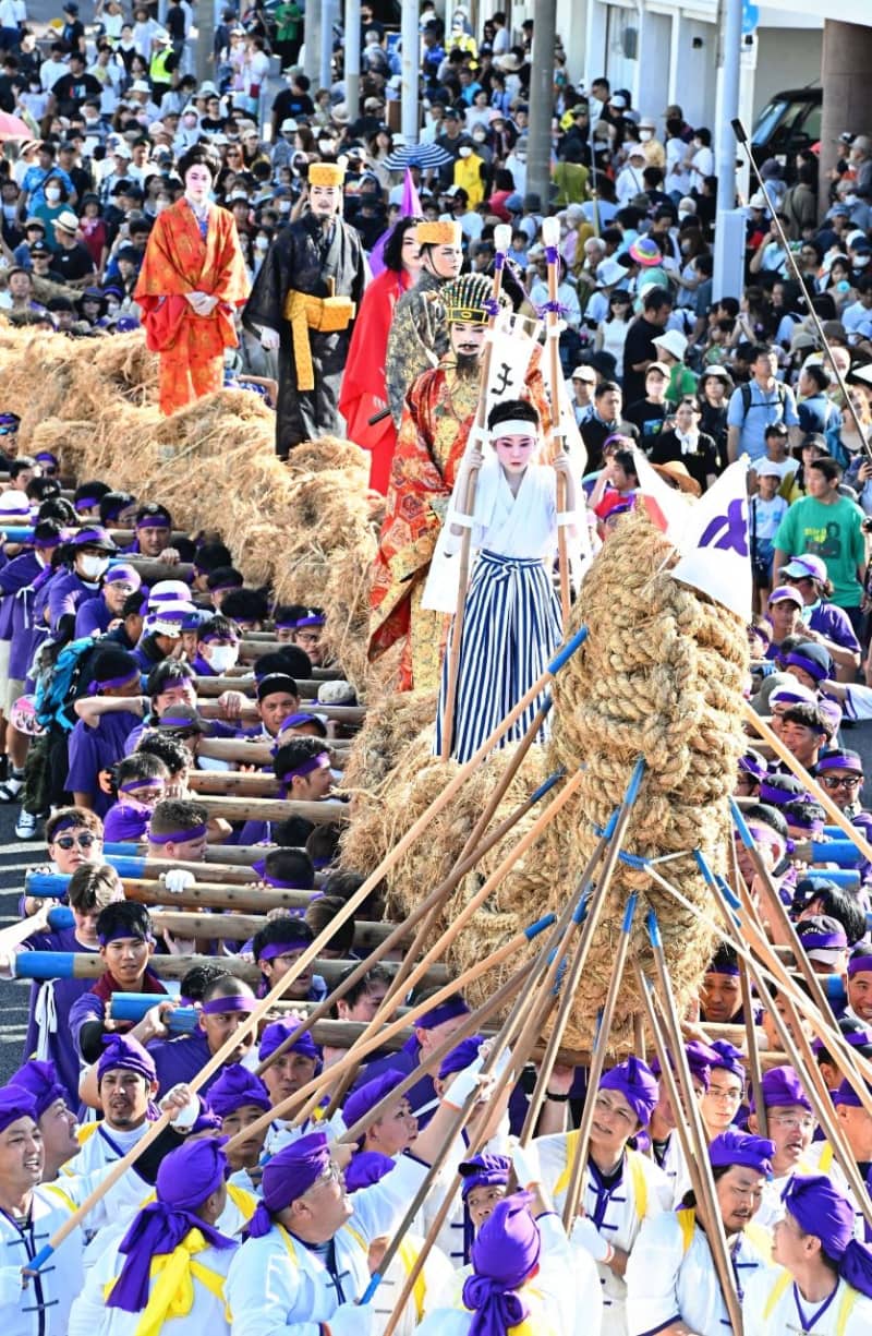
M 369 285 L 361 302 L 339 394 L 346 434 L 371 452 L 370 486 L 382 496 L 387 493 L 397 445 L 397 428 L 387 407 L 385 357 L 394 307 L 421 273 L 415 224 L 415 218 L 401 218 L 390 234 L 383 253 L 385 269 Z M 379 413 L 385 414 L 381 421 L 370 425 L 370 418 Z

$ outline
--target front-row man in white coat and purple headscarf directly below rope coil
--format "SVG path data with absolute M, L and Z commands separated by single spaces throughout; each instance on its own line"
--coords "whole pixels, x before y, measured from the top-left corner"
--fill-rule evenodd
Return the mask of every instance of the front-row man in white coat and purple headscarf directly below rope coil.
M 596 1092 L 590 1126 L 588 1173 L 581 1216 L 572 1232 L 573 1250 L 597 1263 L 602 1281 L 604 1331 L 626 1329 L 624 1272 L 642 1221 L 670 1210 L 672 1188 L 662 1169 L 633 1150 L 628 1141 L 645 1130 L 657 1105 L 657 1079 L 640 1058 L 630 1057 L 606 1071 Z M 562 1212 L 570 1184 L 578 1132 L 537 1137 L 542 1185 Z

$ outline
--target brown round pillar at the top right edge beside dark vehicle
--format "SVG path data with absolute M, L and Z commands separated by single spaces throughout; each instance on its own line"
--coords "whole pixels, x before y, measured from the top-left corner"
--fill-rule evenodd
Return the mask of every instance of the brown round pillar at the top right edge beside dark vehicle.
M 827 211 L 828 172 L 839 158 L 839 135 L 868 134 L 872 126 L 872 28 L 859 23 L 824 23 L 820 81 L 824 115 L 820 131 L 820 215 Z

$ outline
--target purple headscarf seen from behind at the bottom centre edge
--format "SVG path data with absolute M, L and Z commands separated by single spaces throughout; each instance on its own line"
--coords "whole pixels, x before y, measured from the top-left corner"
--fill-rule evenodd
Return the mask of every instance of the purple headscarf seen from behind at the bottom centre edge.
M 469 1336 L 505 1336 L 530 1315 L 518 1293 L 538 1265 L 542 1238 L 527 1210 L 529 1192 L 497 1202 L 473 1244 L 473 1275 L 463 1284 L 463 1305 L 473 1312 Z

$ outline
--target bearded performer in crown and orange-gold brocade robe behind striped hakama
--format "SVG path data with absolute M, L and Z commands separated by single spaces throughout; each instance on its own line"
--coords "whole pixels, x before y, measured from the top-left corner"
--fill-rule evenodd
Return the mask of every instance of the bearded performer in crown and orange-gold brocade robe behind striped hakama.
M 421 599 L 475 421 L 491 294 L 493 283 L 485 274 L 465 274 L 442 287 L 439 301 L 446 311 L 450 350 L 438 366 L 417 377 L 403 406 L 387 513 L 373 564 L 369 643 L 369 657 L 375 660 L 405 640 L 401 691 L 435 689 L 439 684 L 449 617 L 422 608 Z M 510 305 L 507 298 L 502 301 Z M 538 410 L 543 433 L 550 432 L 538 357 L 526 375 L 526 394 Z

